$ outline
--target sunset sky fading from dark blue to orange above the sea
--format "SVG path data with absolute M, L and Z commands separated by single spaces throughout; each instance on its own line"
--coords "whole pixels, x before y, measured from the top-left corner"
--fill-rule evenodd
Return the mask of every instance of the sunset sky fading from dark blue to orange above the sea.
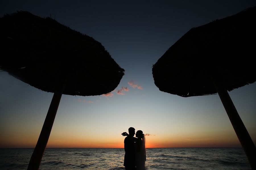
M 154 84 L 152 65 L 192 27 L 255 5 L 249 0 L 3 0 L 0 16 L 17 10 L 51 15 L 101 42 L 125 69 L 109 94 L 62 95 L 47 147 L 123 148 L 121 133 L 129 127 L 146 134 L 148 148 L 241 147 L 217 94 L 184 98 L 161 92 Z M 256 143 L 256 84 L 229 95 Z M 35 147 L 52 97 L 0 72 L 0 148 Z

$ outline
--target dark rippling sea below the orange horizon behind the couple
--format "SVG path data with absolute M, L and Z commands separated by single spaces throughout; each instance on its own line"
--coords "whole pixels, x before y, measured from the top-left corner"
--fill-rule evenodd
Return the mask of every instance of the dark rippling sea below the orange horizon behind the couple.
M 27 169 L 32 148 L 1 148 L 0 169 Z M 123 148 L 46 148 L 41 170 L 120 170 Z M 146 169 L 240 169 L 250 165 L 242 148 L 147 148 Z

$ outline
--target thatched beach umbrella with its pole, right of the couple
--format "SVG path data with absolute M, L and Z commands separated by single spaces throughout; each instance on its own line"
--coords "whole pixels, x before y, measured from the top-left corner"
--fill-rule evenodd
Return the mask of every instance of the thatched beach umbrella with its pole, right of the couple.
M 160 91 L 182 97 L 218 93 L 252 169 L 256 149 L 228 91 L 255 82 L 256 8 L 190 29 L 152 68 Z

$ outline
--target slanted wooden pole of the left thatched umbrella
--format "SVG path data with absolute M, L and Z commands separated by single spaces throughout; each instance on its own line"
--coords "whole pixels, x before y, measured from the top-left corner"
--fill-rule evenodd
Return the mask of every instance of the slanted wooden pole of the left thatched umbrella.
M 40 136 L 38 138 L 36 147 L 34 149 L 34 152 L 30 158 L 29 164 L 28 164 L 28 170 L 35 170 L 39 169 L 44 150 L 46 148 L 50 133 L 51 133 L 51 128 L 53 126 L 53 122 L 56 116 L 56 112 L 59 107 L 59 102 L 61 99 L 61 95 L 63 93 L 64 87 L 65 87 L 65 82 L 61 83 L 59 85 L 59 88 L 57 88 L 56 92 L 54 93 L 50 107 L 48 109 L 43 128 L 41 130 Z

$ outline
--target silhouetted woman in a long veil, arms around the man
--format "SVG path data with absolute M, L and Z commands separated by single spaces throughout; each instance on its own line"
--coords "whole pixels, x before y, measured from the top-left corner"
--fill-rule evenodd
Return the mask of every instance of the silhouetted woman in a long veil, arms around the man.
M 133 133 L 134 134 L 134 133 Z M 128 136 L 126 132 L 122 133 L 123 136 Z M 137 137 L 137 138 L 135 138 Z M 145 170 L 145 161 L 146 161 L 146 139 L 143 131 L 138 130 L 133 137 L 135 145 L 135 165 L 136 170 Z

